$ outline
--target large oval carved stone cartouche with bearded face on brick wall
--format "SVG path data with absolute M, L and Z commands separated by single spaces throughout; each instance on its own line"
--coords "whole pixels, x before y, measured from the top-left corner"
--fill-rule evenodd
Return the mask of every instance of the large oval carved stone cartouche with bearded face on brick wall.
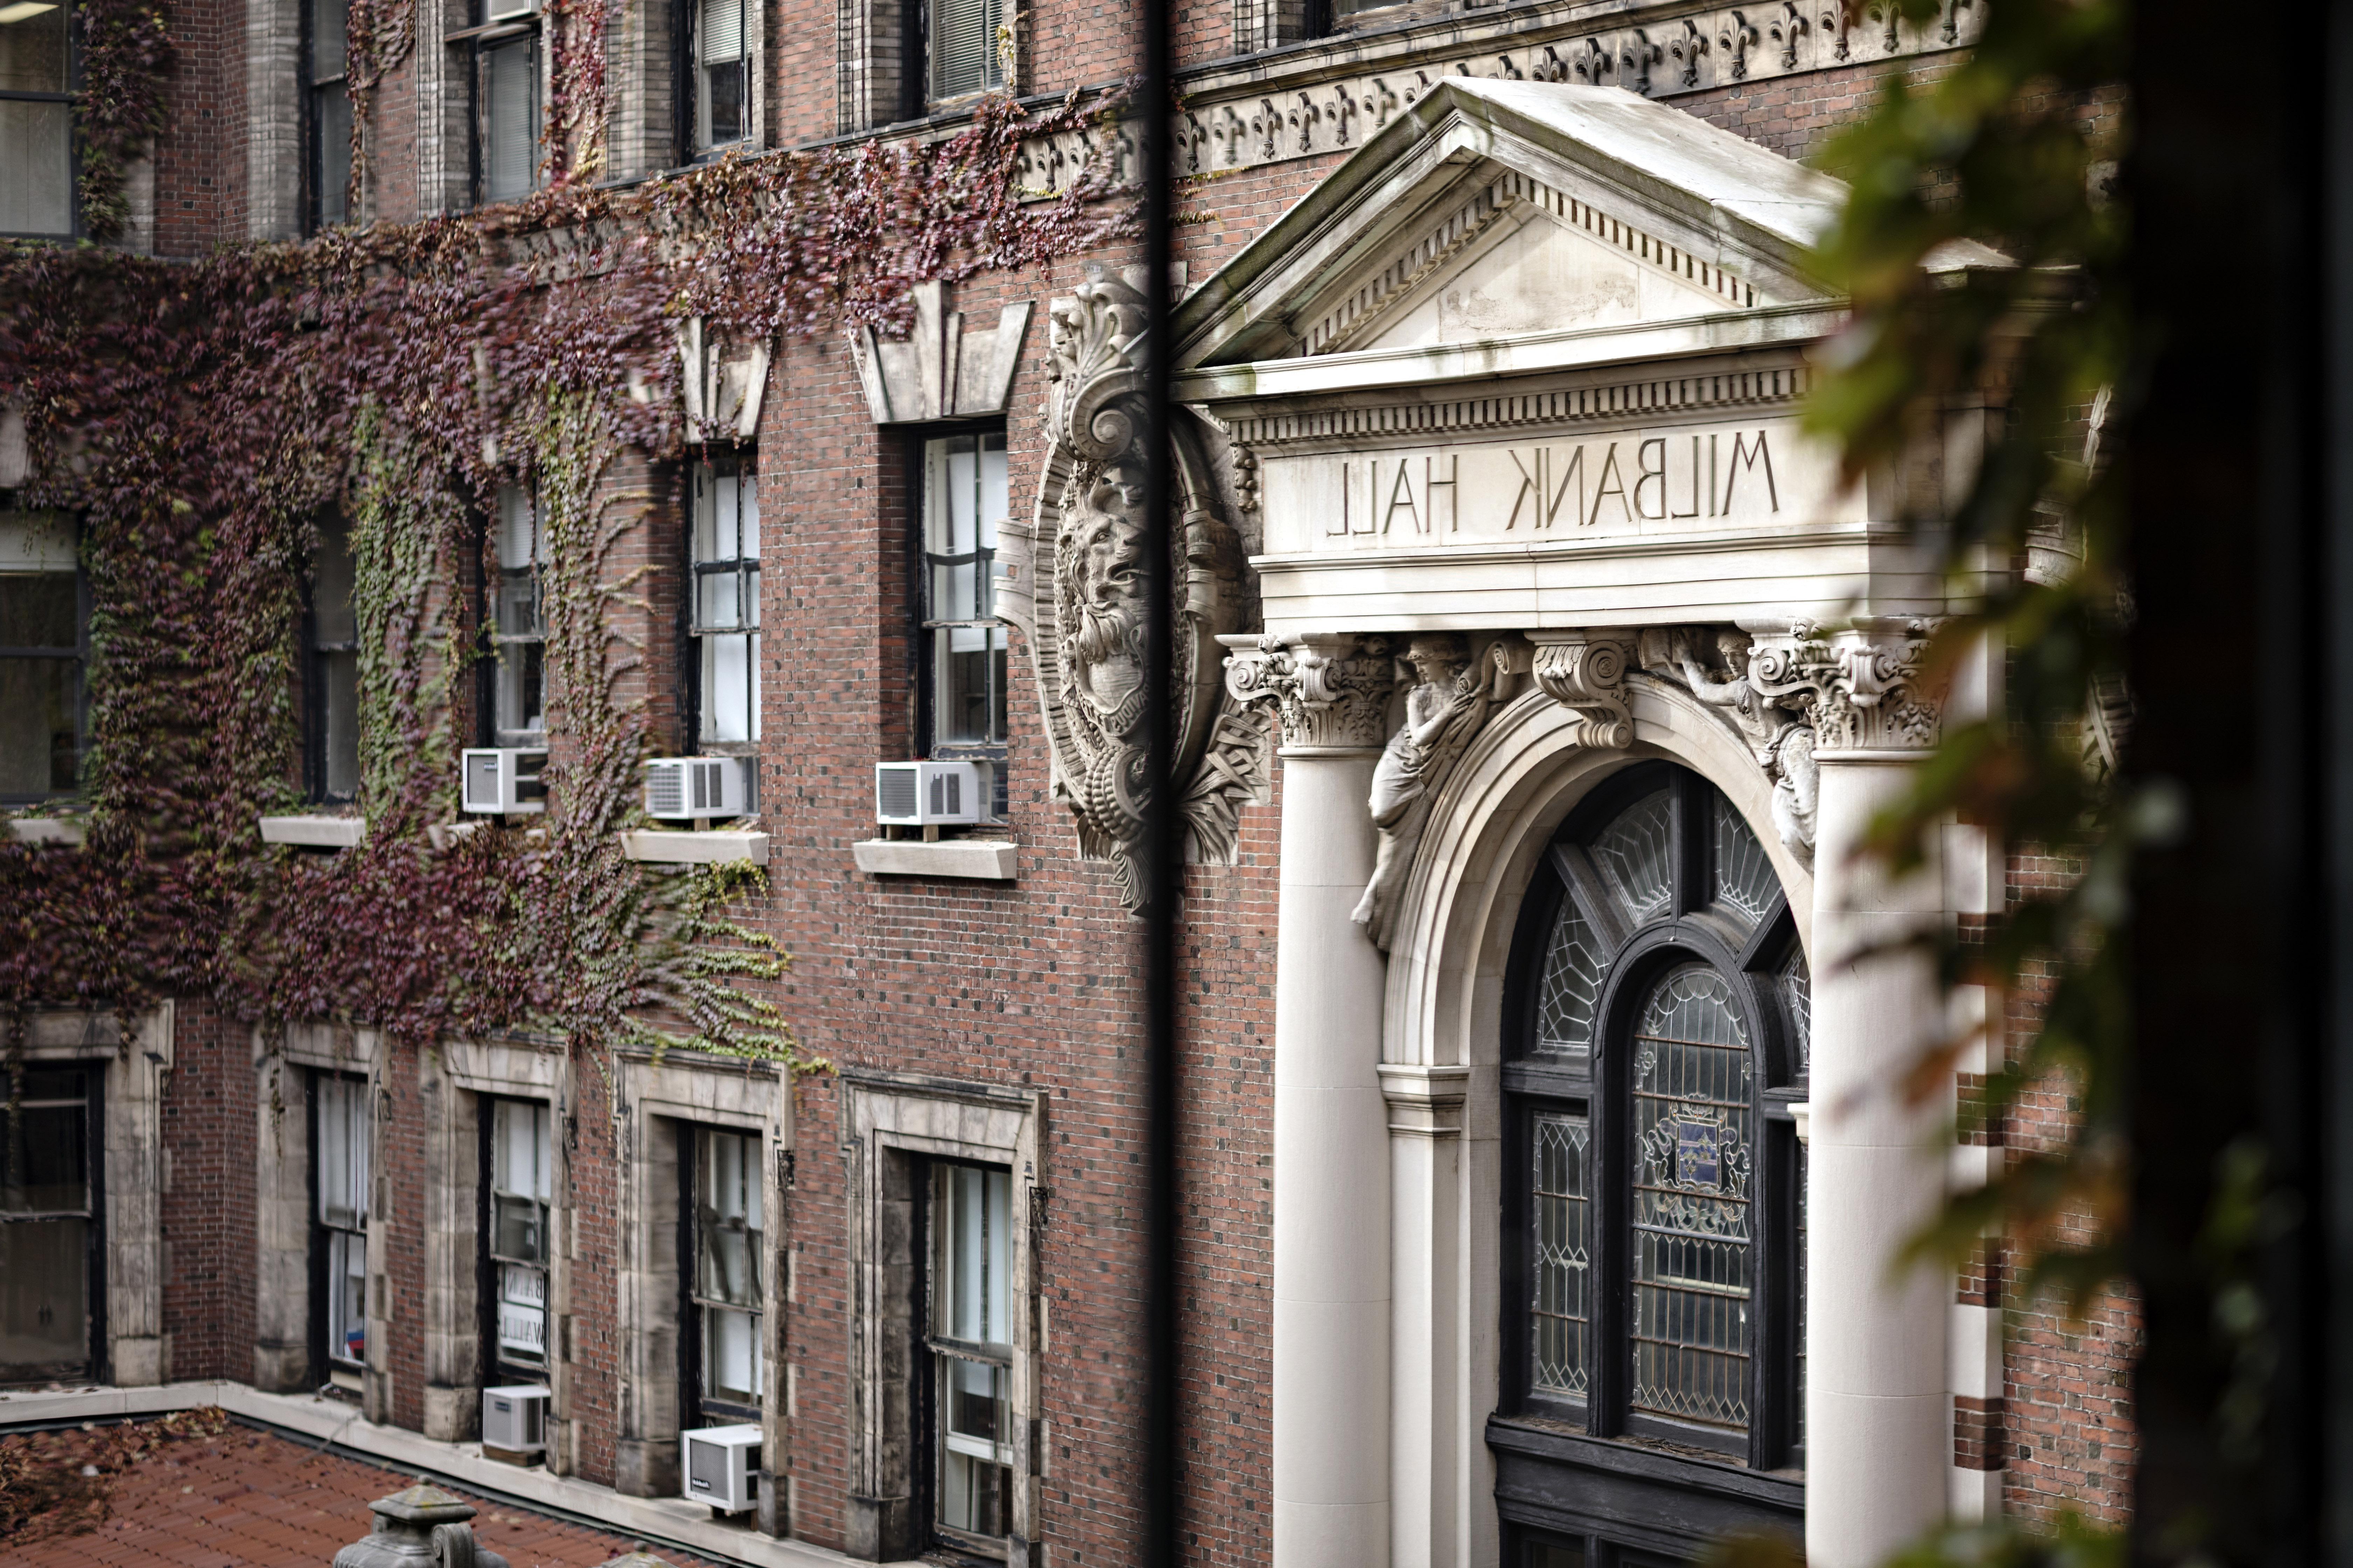
M 1047 310 L 1047 454 L 1038 508 L 1007 522 L 998 614 L 1021 628 L 1052 745 L 1052 790 L 1078 818 L 1078 846 L 1108 860 L 1120 898 L 1148 898 L 1144 860 L 1146 517 L 1144 296 L 1101 268 Z M 1266 795 L 1266 726 L 1224 698 L 1219 635 L 1242 618 L 1242 552 L 1219 517 L 1198 430 L 1172 428 L 1176 541 L 1176 780 L 1186 853 L 1231 860 L 1245 799 Z

